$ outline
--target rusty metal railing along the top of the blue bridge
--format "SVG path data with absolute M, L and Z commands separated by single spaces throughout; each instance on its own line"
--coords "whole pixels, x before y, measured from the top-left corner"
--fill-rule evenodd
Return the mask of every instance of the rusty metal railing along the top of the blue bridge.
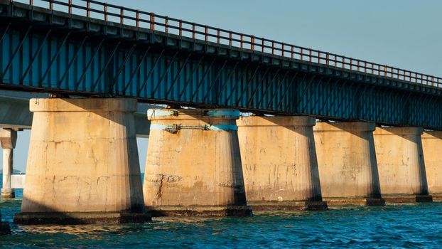
M 251 51 L 259 51 L 262 53 L 271 53 L 272 55 L 280 55 L 285 58 L 404 80 L 410 83 L 432 85 L 437 88 L 442 87 L 442 85 L 440 85 L 442 83 L 442 78 L 436 76 L 394 68 L 388 65 L 371 63 L 366 60 L 358 60 L 344 55 L 318 51 L 316 49 L 303 48 L 289 43 L 269 40 L 235 31 L 228 31 L 222 28 L 201 25 L 190 21 L 183 21 L 177 18 L 157 15 L 153 12 L 129 9 L 124 6 L 107 4 L 95 0 L 77 0 L 77 2 L 84 4 L 72 4 L 72 0 L 41 1 L 47 2 L 49 5 L 48 7 L 51 10 L 54 9 L 54 5 L 58 7 L 62 6 L 64 9 L 61 9 L 61 11 L 68 12 L 69 14 L 74 14 L 73 10 L 76 10 L 77 12 L 84 11 L 88 18 L 91 18 L 92 13 L 95 15 L 94 18 L 101 17 L 104 21 L 115 21 L 125 25 L 136 26 L 138 28 L 149 28 L 152 31 L 173 33 L 180 37 L 193 38 L 206 42 L 249 49 Z M 13 0 L 11 0 L 11 2 L 13 2 Z M 32 6 L 33 0 L 29 0 L 28 4 Z M 91 5 L 93 6 L 91 7 Z M 60 10 L 60 8 L 57 10 Z M 114 19 L 111 20 L 112 18 Z

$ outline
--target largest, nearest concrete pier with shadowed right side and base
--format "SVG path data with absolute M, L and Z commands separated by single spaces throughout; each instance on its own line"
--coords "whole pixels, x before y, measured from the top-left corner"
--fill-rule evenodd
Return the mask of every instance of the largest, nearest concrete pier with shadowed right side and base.
M 32 99 L 16 223 L 144 223 L 131 99 Z

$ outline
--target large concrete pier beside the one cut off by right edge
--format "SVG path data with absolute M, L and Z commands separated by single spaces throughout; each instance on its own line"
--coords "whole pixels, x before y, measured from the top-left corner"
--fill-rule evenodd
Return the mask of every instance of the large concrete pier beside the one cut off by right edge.
M 421 127 L 377 127 L 374 131 L 382 197 L 390 203 L 430 202 Z

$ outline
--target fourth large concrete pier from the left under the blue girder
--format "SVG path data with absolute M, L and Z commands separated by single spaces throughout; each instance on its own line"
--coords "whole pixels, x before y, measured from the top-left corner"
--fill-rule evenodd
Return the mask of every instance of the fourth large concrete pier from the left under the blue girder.
M 313 127 L 323 200 L 329 205 L 384 205 L 368 122 L 318 122 Z

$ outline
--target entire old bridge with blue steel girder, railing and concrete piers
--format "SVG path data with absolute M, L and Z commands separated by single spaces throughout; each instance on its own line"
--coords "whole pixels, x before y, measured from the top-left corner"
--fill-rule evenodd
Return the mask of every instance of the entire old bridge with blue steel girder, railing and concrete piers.
M 0 120 L 4 168 L 14 132 L 32 129 L 17 222 L 442 193 L 439 77 L 100 1 L 40 3 L 0 0 L 0 89 L 17 92 L 0 100 L 14 109 Z M 28 106 L 29 92 L 49 95 Z M 168 109 L 146 116 L 150 104 Z M 136 134 L 150 136 L 144 184 Z

